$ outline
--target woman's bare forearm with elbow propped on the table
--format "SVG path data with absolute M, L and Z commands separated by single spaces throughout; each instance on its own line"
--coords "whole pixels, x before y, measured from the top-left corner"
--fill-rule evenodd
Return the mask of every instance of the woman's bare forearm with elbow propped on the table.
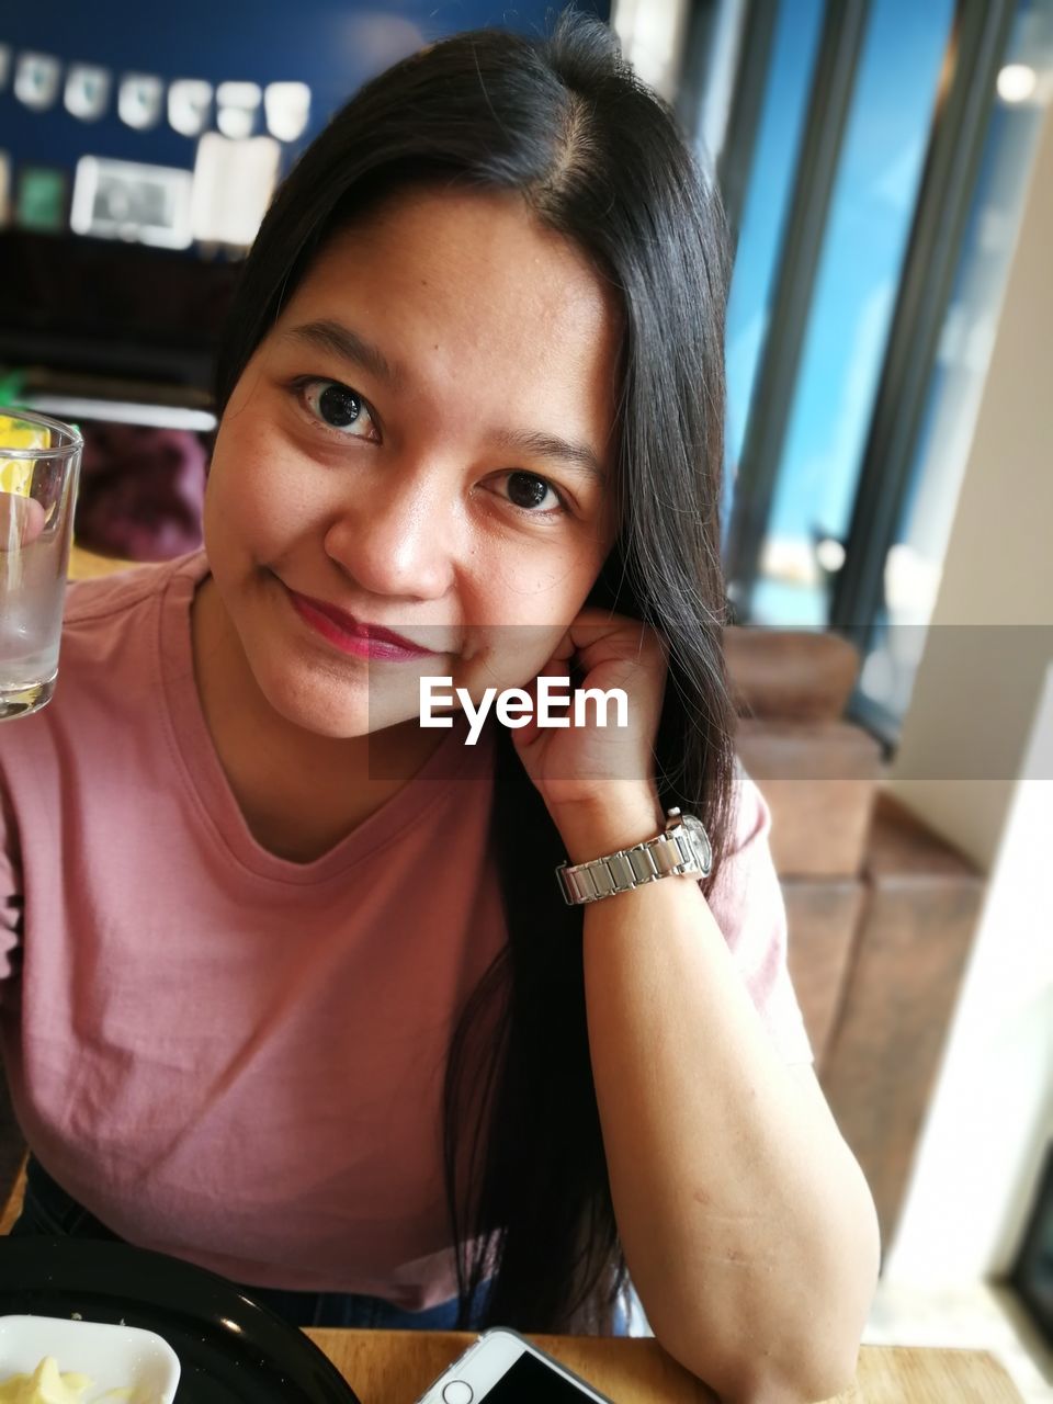
M 574 863 L 653 837 L 658 813 L 639 788 L 553 819 Z M 873 1200 L 698 882 L 585 906 L 584 974 L 614 1209 L 657 1339 L 729 1404 L 845 1389 L 878 1279 Z

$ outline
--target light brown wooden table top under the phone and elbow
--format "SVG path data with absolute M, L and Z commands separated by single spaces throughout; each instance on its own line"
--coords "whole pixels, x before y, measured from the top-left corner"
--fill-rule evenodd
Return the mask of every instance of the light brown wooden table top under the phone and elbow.
M 329 1331 L 307 1335 L 362 1404 L 414 1404 L 475 1339 L 455 1331 Z M 712 1404 L 716 1396 L 640 1337 L 534 1335 L 531 1339 L 616 1404 Z M 984 1351 L 865 1345 L 856 1382 L 838 1404 L 1022 1404 Z

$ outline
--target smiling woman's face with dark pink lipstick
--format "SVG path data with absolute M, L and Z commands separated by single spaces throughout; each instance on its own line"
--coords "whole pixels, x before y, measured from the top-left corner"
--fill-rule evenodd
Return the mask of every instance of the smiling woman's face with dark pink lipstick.
M 326 246 L 234 389 L 205 504 L 281 716 L 364 736 L 418 717 L 423 675 L 479 699 L 543 670 L 615 538 L 619 330 L 514 195 L 418 191 Z M 431 651 L 379 657 L 354 622 Z

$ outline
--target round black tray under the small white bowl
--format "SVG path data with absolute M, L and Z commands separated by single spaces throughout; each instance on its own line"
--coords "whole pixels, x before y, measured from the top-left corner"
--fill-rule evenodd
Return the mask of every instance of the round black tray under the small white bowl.
M 0 1316 L 74 1311 L 163 1337 L 176 1404 L 359 1404 L 302 1331 L 225 1278 L 124 1243 L 0 1238 Z

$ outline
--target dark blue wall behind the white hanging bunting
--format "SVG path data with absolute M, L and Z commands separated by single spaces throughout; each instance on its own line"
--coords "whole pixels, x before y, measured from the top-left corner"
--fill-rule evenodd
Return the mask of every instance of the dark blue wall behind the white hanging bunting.
M 52 53 L 63 63 L 101 63 L 115 79 L 125 72 L 173 79 L 247 80 L 265 86 L 302 81 L 312 88 L 312 122 L 299 150 L 372 73 L 421 44 L 483 25 L 524 34 L 548 28 L 552 0 L 3 0 L 0 44 Z M 607 20 L 609 4 L 585 3 Z M 84 154 L 159 166 L 194 166 L 197 140 L 180 136 L 167 118 L 136 132 L 117 115 L 117 94 L 97 122 L 81 122 L 59 102 L 31 112 L 15 101 L 13 76 L 0 91 L 0 149 L 15 166 L 41 163 L 72 173 Z M 257 131 L 263 129 L 257 124 Z M 289 152 L 295 154 L 295 150 Z M 286 163 L 288 164 L 288 159 Z

